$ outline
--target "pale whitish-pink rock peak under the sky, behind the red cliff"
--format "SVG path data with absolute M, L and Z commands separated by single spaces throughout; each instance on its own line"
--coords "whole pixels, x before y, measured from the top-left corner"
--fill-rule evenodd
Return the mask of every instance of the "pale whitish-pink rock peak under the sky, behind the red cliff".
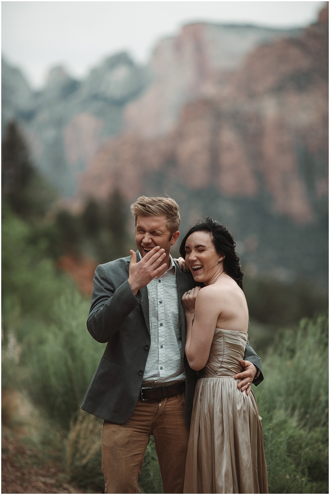
M 153 82 L 142 98 L 129 103 L 124 125 L 143 137 L 170 131 L 187 101 L 219 94 L 228 74 L 260 44 L 298 36 L 300 29 L 195 23 L 156 47 L 150 71 Z

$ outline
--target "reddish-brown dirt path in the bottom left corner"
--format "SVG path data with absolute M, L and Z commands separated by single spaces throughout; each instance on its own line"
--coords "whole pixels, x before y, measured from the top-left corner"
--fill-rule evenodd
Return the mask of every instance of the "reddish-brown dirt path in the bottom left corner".
M 87 493 L 65 477 L 60 465 L 42 462 L 37 450 L 28 448 L 21 441 L 10 437 L 8 434 L 2 436 L 1 493 Z

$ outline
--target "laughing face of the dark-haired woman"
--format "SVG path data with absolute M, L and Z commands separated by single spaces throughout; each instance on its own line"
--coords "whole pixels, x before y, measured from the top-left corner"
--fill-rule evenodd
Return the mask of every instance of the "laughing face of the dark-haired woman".
M 208 232 L 193 232 L 186 240 L 185 261 L 196 282 L 207 284 L 222 268 L 219 255 Z

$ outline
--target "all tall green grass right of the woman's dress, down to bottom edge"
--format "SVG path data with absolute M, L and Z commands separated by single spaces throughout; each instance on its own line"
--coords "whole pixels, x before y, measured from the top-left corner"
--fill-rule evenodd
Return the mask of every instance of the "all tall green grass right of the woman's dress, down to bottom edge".
M 255 389 L 270 493 L 328 493 L 328 326 L 319 316 L 277 333 Z

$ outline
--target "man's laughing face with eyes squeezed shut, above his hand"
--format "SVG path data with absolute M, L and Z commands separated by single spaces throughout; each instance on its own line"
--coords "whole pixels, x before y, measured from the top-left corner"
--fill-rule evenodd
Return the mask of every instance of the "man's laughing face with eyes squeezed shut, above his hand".
M 136 219 L 135 241 L 142 257 L 156 246 L 163 247 L 166 256 L 168 256 L 171 245 L 179 237 L 176 234 L 179 232 L 177 231 L 171 236 L 166 225 L 166 217 L 163 215 L 138 216 Z

